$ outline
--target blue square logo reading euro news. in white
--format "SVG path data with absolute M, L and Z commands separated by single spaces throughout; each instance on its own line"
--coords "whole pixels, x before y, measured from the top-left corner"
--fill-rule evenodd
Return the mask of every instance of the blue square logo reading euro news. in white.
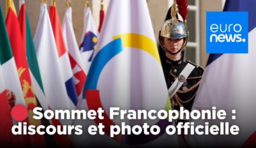
M 248 12 L 206 13 L 207 53 L 248 53 Z

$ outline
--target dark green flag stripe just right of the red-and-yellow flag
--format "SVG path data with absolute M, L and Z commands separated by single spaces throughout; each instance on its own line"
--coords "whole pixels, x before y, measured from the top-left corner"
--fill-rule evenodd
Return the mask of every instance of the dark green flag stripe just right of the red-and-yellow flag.
M 38 61 L 36 57 L 36 49 L 34 47 L 34 41 L 32 37 L 32 32 L 30 30 L 30 22 L 28 20 L 28 14 L 26 12 L 26 54 L 28 60 L 28 66 L 30 67 L 30 71 L 34 75 L 38 85 L 44 92 L 44 88 L 42 87 L 42 79 L 40 75 L 40 70 L 38 67 Z

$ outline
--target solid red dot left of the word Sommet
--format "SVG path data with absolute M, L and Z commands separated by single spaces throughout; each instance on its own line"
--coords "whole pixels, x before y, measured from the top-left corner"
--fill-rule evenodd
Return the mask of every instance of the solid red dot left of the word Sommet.
M 15 105 L 11 110 L 11 117 L 16 121 L 23 121 L 27 118 L 27 116 L 28 110 L 22 104 Z

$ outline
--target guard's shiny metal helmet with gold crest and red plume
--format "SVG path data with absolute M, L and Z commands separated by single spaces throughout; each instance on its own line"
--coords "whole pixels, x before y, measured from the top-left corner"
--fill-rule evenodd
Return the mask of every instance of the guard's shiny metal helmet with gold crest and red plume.
M 187 4 L 186 0 L 178 0 L 178 1 L 181 4 L 184 4 L 184 3 L 185 5 Z M 185 15 L 187 15 L 187 11 L 188 11 L 187 7 L 185 7 L 185 10 L 186 10 Z M 185 48 L 185 46 L 187 46 L 187 42 L 189 40 L 189 31 L 187 30 L 187 26 L 186 26 L 186 18 L 185 16 L 183 17 L 183 22 L 179 20 L 177 18 L 178 12 L 179 12 L 179 9 L 177 5 L 177 1 L 174 0 L 174 3 L 170 9 L 171 18 L 168 18 L 168 15 L 166 16 L 166 21 L 162 25 L 162 29 L 160 30 L 160 33 L 159 33 L 160 46 L 166 52 L 167 50 L 164 48 L 164 46 L 162 46 L 162 37 L 174 38 L 174 39 L 184 38 L 185 40 L 184 40 L 183 46 L 181 47 L 181 50 L 179 50 L 179 52 L 181 52 Z M 176 52 L 174 54 L 177 54 L 179 52 Z M 173 54 L 173 53 L 170 53 L 170 54 Z

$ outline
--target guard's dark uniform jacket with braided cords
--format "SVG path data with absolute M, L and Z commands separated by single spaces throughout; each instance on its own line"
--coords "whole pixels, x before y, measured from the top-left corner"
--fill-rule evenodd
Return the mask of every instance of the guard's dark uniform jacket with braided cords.
M 178 61 L 172 61 L 165 56 L 165 52 L 162 52 L 160 59 L 162 62 L 166 85 L 168 88 L 172 85 L 175 79 L 177 79 L 187 63 L 191 63 L 189 61 L 183 61 L 183 59 L 180 59 Z M 191 64 L 195 65 L 193 63 Z M 189 77 L 185 79 L 185 82 L 183 83 L 183 85 L 181 85 L 174 97 L 170 98 L 172 102 L 172 108 L 174 108 L 175 110 L 179 110 L 179 108 L 183 106 L 185 109 L 191 111 L 191 107 L 197 94 L 197 89 L 201 82 L 202 75 L 203 68 L 195 65 L 195 69 L 193 69 Z

